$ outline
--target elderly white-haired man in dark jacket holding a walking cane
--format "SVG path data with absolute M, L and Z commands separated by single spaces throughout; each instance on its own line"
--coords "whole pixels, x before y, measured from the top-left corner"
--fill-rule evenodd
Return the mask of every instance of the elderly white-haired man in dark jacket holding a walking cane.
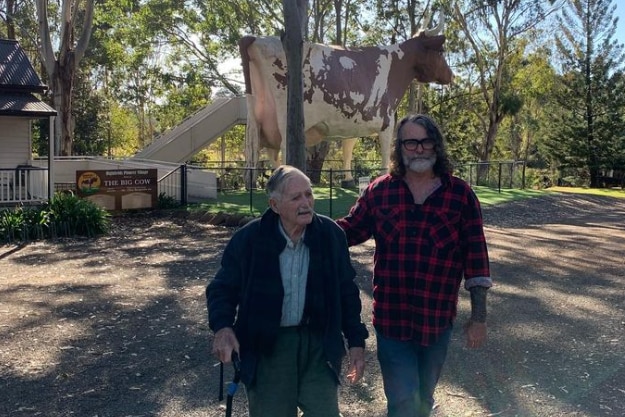
M 364 370 L 368 332 L 344 232 L 313 210 L 309 178 L 291 166 L 267 182 L 269 208 L 238 230 L 206 290 L 213 352 L 241 359 L 250 417 L 338 417 L 338 383 Z

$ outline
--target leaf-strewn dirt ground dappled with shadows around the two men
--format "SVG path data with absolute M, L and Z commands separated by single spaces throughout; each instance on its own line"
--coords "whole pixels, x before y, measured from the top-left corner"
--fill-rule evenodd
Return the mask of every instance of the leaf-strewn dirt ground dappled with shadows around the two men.
M 434 416 L 624 416 L 625 200 L 556 194 L 484 217 L 489 340 L 463 347 L 463 291 Z M 0 416 L 224 415 L 204 288 L 232 232 L 142 215 L 98 239 L 0 247 Z M 352 248 L 367 323 L 372 250 Z M 386 415 L 374 338 L 367 351 L 345 417 Z

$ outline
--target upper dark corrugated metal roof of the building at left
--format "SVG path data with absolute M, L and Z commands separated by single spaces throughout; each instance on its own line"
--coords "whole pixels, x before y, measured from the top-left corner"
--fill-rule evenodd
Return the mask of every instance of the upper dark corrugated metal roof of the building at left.
M 2 90 L 47 90 L 19 42 L 12 39 L 0 39 L 0 91 Z

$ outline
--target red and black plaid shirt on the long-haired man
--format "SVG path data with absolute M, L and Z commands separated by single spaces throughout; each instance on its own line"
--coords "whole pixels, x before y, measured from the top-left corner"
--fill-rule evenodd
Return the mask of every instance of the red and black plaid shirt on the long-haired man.
M 491 286 L 480 203 L 463 180 L 415 204 L 403 179 L 373 181 L 338 220 L 351 245 L 375 239 L 373 325 L 388 338 L 430 345 L 456 316 L 465 288 Z

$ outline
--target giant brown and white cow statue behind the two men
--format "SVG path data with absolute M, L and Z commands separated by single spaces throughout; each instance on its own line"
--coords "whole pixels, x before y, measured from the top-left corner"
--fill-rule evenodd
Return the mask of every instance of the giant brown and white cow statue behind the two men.
M 352 179 L 357 137 L 377 134 L 382 165 L 388 168 L 395 111 L 410 82 L 449 84 L 443 56 L 443 16 L 434 29 L 402 43 L 340 48 L 304 43 L 304 131 L 306 146 L 324 139 L 343 141 L 343 169 Z M 255 167 L 261 148 L 274 164 L 286 154 L 286 56 L 278 37 L 245 36 L 239 41 L 247 96 L 245 157 Z

